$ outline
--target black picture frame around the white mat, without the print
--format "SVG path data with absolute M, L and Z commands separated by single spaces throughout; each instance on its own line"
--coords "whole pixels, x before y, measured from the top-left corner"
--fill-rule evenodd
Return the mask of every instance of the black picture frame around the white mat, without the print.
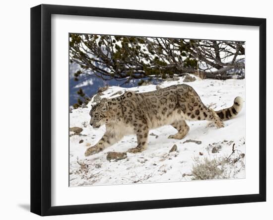
M 85 15 L 258 26 L 259 194 L 153 201 L 51 205 L 51 15 Z M 266 201 L 266 19 L 41 4 L 31 8 L 31 212 L 41 216 Z

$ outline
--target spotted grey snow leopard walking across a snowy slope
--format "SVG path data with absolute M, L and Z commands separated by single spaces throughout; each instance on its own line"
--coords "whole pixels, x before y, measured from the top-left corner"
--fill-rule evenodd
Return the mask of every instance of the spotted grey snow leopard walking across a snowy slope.
M 155 91 L 136 93 L 126 91 L 119 97 L 102 100 L 90 110 L 90 126 L 106 126 L 106 132 L 97 144 L 88 147 L 85 156 L 98 153 L 120 141 L 125 135 L 135 134 L 137 146 L 127 152 L 146 149 L 149 130 L 171 125 L 177 133 L 170 139 L 183 139 L 190 127 L 186 120 L 211 121 L 217 128 L 232 119 L 242 109 L 243 99 L 238 96 L 233 105 L 219 111 L 208 108 L 193 87 L 187 84 L 171 85 Z

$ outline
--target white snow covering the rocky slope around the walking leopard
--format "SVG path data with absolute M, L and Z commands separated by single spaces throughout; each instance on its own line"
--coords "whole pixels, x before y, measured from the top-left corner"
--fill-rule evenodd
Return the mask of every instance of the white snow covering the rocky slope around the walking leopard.
M 197 77 L 196 77 L 197 78 Z M 236 96 L 245 99 L 245 79 L 213 80 L 197 78 L 193 82 L 164 81 L 160 87 L 173 84 L 189 84 L 200 95 L 203 103 L 215 110 L 230 107 Z M 132 87 L 130 90 L 146 92 L 156 89 L 156 85 Z M 118 91 L 125 92 L 128 88 L 110 86 L 103 92 L 101 98 L 113 98 Z M 120 142 L 104 151 L 89 157 L 84 156 L 87 147 L 95 145 L 105 132 L 105 126 L 94 130 L 89 125 L 89 111 L 93 99 L 87 108 L 73 109 L 69 114 L 69 127 L 81 127 L 80 135 L 73 135 L 69 142 L 69 186 L 112 185 L 132 183 L 152 183 L 170 181 L 193 181 L 192 169 L 196 160 L 204 158 L 236 158 L 245 154 L 245 108 L 234 118 L 225 121 L 225 127 L 217 129 L 206 121 L 188 121 L 190 132 L 183 140 L 168 139 L 177 131 L 172 126 L 163 126 L 150 130 L 146 150 L 133 154 L 127 153 L 127 158 L 108 161 L 107 152 L 124 152 L 136 147 L 136 136 L 129 135 Z M 72 134 L 72 133 L 70 133 Z M 201 141 L 202 144 L 186 140 Z M 79 141 L 83 140 L 81 144 Z M 235 144 L 235 145 L 234 145 Z M 169 153 L 177 145 L 178 152 Z M 234 153 L 232 154 L 232 146 Z M 212 153 L 212 149 L 217 149 Z M 224 174 L 221 178 L 245 178 L 245 157 L 239 161 L 223 165 Z

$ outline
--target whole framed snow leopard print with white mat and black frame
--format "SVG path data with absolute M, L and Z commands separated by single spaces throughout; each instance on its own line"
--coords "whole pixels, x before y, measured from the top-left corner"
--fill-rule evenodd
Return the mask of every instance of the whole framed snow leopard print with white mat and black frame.
M 266 19 L 31 8 L 31 212 L 266 201 Z

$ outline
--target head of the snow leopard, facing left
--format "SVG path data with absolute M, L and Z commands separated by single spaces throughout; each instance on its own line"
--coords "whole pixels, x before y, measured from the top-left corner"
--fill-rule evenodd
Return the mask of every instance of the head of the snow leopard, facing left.
M 107 101 L 102 101 L 95 104 L 89 112 L 91 117 L 90 125 L 93 128 L 99 128 L 100 126 L 110 122 L 111 114 L 110 108 Z

